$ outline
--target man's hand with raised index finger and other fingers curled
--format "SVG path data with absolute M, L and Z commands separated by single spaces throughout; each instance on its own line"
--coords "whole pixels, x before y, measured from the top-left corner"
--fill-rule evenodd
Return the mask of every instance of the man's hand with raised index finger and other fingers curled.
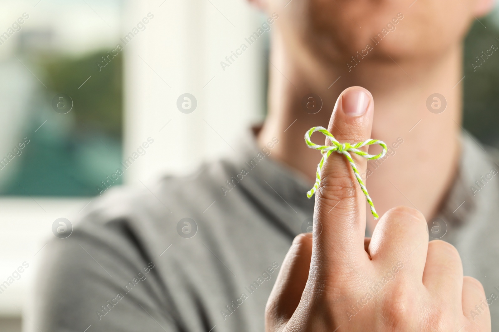
M 366 140 L 373 111 L 367 90 L 346 89 L 328 130 L 340 142 Z M 367 160 L 352 157 L 362 174 Z M 365 196 L 352 190 L 359 187 L 345 157 L 333 153 L 321 179 L 313 236 L 298 235 L 284 259 L 267 302 L 267 332 L 491 331 L 481 283 L 463 277 L 454 246 L 428 242 L 420 212 L 394 208 L 364 239 Z

